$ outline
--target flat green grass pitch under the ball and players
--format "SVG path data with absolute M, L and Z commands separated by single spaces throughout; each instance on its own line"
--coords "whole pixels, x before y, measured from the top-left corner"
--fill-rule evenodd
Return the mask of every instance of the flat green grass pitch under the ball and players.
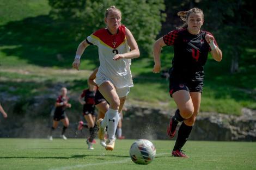
M 255 142 L 188 141 L 184 147 L 189 159 L 170 156 L 174 141 L 152 141 L 156 158 L 149 165 L 136 165 L 129 156 L 134 140 L 118 140 L 113 152 L 99 143 L 87 150 L 82 139 L 0 139 L 0 169 L 256 169 Z M 98 142 L 98 141 L 97 141 Z

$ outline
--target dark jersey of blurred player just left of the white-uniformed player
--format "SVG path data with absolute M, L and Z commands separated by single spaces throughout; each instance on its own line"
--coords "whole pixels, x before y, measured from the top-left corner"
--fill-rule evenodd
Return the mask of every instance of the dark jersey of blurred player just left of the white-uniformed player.
M 83 110 L 93 110 L 95 107 L 95 102 L 94 102 L 94 97 L 95 97 L 95 91 L 90 91 L 89 89 L 86 89 L 83 91 L 81 94 L 81 98 L 84 98 L 84 101 L 86 104 L 83 105 Z

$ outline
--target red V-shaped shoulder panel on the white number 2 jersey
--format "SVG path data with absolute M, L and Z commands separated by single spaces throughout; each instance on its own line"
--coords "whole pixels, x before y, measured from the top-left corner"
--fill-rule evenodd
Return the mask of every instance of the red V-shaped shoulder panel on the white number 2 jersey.
M 106 28 L 97 30 L 96 32 L 93 33 L 93 35 L 98 37 L 104 43 L 106 43 L 106 45 L 115 49 L 119 45 L 121 45 L 121 43 L 123 43 L 125 40 L 125 26 L 124 25 L 119 26 L 118 33 L 114 35 L 109 34 Z

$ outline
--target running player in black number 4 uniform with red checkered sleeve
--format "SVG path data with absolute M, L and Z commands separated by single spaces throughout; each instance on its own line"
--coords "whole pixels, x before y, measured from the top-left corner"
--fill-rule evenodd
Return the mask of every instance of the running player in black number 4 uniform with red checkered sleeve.
M 153 72 L 159 73 L 161 70 L 161 48 L 166 45 L 173 46 L 174 58 L 169 71 L 169 93 L 178 109 L 170 119 L 167 134 L 170 138 L 174 137 L 177 124 L 182 122 L 172 155 L 187 158 L 188 156 L 181 152 L 181 148 L 187 141 L 199 112 L 204 65 L 209 52 L 216 61 L 222 60 L 222 52 L 214 36 L 200 30 L 204 23 L 202 10 L 192 8 L 178 12 L 178 16 L 185 24 L 164 35 L 154 44 Z

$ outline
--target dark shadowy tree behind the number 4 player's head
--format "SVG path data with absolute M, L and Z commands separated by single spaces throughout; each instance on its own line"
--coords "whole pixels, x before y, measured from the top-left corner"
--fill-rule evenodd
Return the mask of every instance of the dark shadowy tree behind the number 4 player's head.
M 245 59 L 246 50 L 255 48 L 255 1 L 250 0 L 185 0 L 165 1 L 167 19 L 163 28 L 174 29 L 182 24 L 177 17 L 178 11 L 186 11 L 198 7 L 204 11 L 203 29 L 214 33 L 219 45 L 225 52 L 225 60 L 230 61 L 229 71 L 239 71 L 239 62 Z M 172 23 L 172 24 L 170 24 Z M 166 33 L 163 33 L 166 34 Z M 248 57 L 248 56 L 247 56 Z M 255 59 L 254 59 L 255 60 Z

